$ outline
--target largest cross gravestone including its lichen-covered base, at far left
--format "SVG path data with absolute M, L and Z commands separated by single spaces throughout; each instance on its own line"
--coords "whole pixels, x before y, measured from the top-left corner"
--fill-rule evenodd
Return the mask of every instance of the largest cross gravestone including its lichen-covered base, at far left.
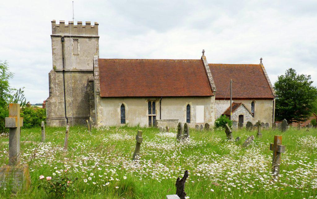
M 16 193 L 19 189 L 27 190 L 31 184 L 29 166 L 20 164 L 20 104 L 9 104 L 9 117 L 5 118 L 5 127 L 9 128 L 9 164 L 0 168 L 0 186 L 12 187 Z

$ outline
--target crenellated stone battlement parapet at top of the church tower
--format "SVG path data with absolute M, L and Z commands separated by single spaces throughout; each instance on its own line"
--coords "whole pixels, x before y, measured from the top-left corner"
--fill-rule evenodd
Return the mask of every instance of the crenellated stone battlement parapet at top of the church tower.
M 82 22 L 77 22 L 77 25 L 74 25 L 73 21 L 69 21 L 68 24 L 65 24 L 65 21 L 59 21 L 59 24 L 56 24 L 55 20 L 52 20 L 52 34 L 53 35 L 95 35 L 98 36 L 98 23 L 95 22 L 94 25 L 90 25 L 90 22 L 85 22 L 85 25 L 82 25 Z

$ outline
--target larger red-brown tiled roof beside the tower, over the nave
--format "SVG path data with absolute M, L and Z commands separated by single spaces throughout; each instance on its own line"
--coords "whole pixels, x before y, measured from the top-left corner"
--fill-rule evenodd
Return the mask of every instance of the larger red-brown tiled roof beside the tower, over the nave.
M 201 59 L 99 59 L 101 97 L 213 96 Z

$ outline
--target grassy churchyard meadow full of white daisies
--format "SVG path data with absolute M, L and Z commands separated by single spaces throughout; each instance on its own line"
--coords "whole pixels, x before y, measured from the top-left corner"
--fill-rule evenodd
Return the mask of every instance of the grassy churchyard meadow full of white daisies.
M 39 176 L 54 176 L 68 169 L 76 177 L 66 198 L 165 199 L 175 194 L 177 177 L 186 169 L 185 191 L 194 198 L 317 198 L 317 130 L 286 132 L 262 130 L 247 148 L 245 139 L 256 131 L 233 132 L 238 142 L 226 140 L 224 130 L 195 131 L 190 139 L 176 141 L 177 129 L 161 133 L 156 128 L 98 127 L 87 131 L 71 127 L 68 151 L 63 151 L 65 128 L 23 129 L 21 162 L 29 164 L 31 188 L 11 194 L 0 187 L 0 198 L 52 198 L 38 189 Z M 132 161 L 137 130 L 143 131 L 140 157 Z M 286 152 L 281 155 L 281 173 L 272 180 L 269 143 L 281 135 Z M 8 137 L 0 138 L 0 164 L 8 163 Z M 44 178 L 44 180 L 46 180 Z

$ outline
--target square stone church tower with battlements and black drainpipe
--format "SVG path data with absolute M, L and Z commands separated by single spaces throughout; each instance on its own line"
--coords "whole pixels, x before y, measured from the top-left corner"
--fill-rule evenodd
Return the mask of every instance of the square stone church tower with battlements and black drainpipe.
M 93 57 L 99 57 L 98 23 L 52 21 L 53 69 L 46 100 L 48 126 L 85 124 L 91 113 Z M 90 78 L 89 78 L 90 77 Z

